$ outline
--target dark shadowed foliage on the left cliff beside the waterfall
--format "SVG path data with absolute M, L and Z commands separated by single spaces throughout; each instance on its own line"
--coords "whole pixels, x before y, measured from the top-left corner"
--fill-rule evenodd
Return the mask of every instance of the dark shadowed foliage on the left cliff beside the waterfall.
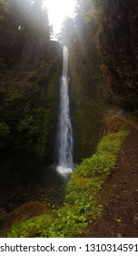
M 13 165 L 18 155 L 35 163 L 44 161 L 48 154 L 49 133 L 51 126 L 50 110 L 46 108 L 45 99 L 38 103 L 40 89 L 36 84 L 20 81 L 18 86 L 7 86 L 8 74 L 3 77 L 0 97 L 0 148 L 7 147 L 13 155 Z M 4 85 L 3 85 L 3 80 Z M 19 156 L 20 155 L 20 156 Z M 22 158 L 21 157 L 21 158 Z M 19 161 L 18 159 L 18 161 Z M 21 159 L 22 161 L 23 159 Z M 27 160 L 26 160 L 27 162 Z M 34 164 L 35 165 L 35 164 Z

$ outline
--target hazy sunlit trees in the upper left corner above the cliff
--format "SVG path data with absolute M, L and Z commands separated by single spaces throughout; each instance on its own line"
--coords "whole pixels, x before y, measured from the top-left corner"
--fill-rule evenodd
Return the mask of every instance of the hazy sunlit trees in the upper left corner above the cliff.
M 46 48 L 49 43 L 50 26 L 42 3 L 36 0 L 0 0 L 3 10 L 9 6 L 9 12 L 5 12 L 0 23 L 0 59 L 5 59 L 6 66 L 13 67 L 13 63 L 21 59 L 25 44 Z

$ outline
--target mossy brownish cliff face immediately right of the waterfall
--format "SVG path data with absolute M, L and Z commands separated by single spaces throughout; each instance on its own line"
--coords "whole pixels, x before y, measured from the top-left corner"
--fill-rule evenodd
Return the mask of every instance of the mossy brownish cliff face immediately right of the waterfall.
M 94 37 L 91 41 L 84 38 L 74 44 L 74 48 L 70 48 L 69 70 L 74 162 L 78 163 L 94 153 L 103 129 L 101 111 L 104 79 Z

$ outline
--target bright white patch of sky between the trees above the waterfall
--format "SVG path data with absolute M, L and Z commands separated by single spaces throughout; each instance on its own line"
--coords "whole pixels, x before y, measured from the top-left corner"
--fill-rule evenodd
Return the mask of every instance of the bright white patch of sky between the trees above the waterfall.
M 65 16 L 74 16 L 74 5 L 75 0 L 44 0 L 50 25 L 54 27 L 54 35 L 60 32 Z

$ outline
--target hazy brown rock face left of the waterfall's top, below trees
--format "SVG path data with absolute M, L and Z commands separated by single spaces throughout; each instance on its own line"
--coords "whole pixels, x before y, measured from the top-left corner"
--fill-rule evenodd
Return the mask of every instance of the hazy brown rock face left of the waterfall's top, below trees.
M 54 48 L 50 42 L 39 37 L 22 37 L 11 27 L 4 27 L 4 30 L 0 27 L 0 59 L 5 59 L 7 68 L 12 69 L 17 64 L 24 69 L 34 69 L 43 59 L 50 57 L 50 51 Z

